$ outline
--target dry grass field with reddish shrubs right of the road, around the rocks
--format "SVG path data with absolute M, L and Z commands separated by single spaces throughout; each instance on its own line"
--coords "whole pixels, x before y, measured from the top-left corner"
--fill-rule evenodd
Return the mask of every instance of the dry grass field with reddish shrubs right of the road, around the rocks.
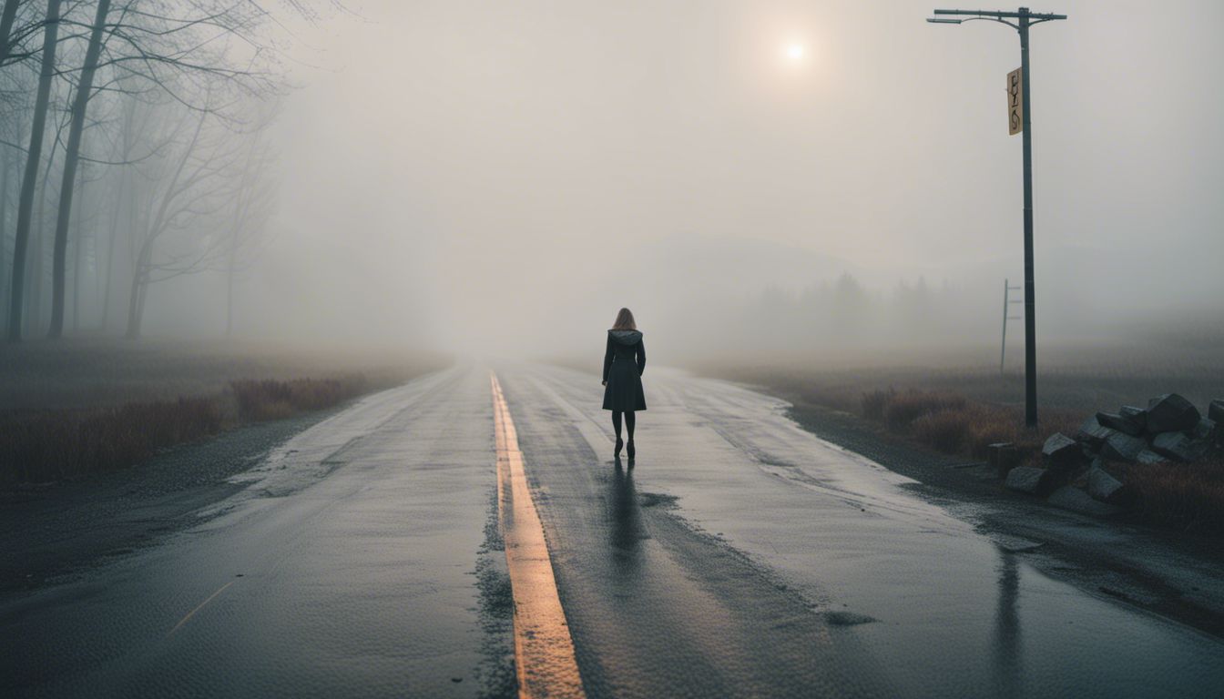
M 1190 334 L 1180 342 L 1069 344 L 1039 354 L 1040 424 L 1023 424 L 1021 366 L 983 361 L 985 351 L 957 349 L 909 356 L 814 357 L 799 361 L 716 361 L 696 371 L 755 386 L 797 406 L 856 415 L 917 446 L 966 460 L 984 460 L 987 446 L 1012 442 L 1028 462 L 1054 432 L 1073 436 L 1086 417 L 1146 406 L 1148 398 L 1180 393 L 1204 411 L 1224 398 L 1224 343 Z M 1127 482 L 1138 495 L 1140 521 L 1209 535 L 1224 534 L 1224 460 L 1197 464 L 1130 465 Z

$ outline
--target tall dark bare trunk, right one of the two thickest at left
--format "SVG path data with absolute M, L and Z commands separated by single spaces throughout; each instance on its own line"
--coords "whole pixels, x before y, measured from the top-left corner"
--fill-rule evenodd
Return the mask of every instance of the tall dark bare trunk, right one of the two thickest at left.
M 89 107 L 93 76 L 98 72 L 98 54 L 102 51 L 102 34 L 106 26 L 108 12 L 110 12 L 110 0 L 98 0 L 93 29 L 89 32 L 89 47 L 84 51 L 84 64 L 81 66 L 81 81 L 77 84 L 76 98 L 72 100 L 72 124 L 69 126 L 69 142 L 64 149 L 60 212 L 55 222 L 55 256 L 51 263 L 51 329 L 48 333 L 50 338 L 59 338 L 64 334 L 64 290 L 67 284 L 65 267 L 67 266 L 69 222 L 72 218 L 72 185 L 76 182 L 77 160 L 81 155 L 81 132 L 84 130 L 84 110 Z

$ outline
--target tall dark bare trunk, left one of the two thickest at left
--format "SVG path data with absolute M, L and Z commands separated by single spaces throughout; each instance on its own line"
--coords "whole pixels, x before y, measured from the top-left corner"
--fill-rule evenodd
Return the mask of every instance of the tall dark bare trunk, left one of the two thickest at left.
M 34 212 L 34 185 L 38 164 L 43 155 L 43 131 L 47 127 L 47 105 L 51 95 L 51 78 L 55 77 L 55 44 L 60 31 L 60 0 L 47 0 L 47 27 L 43 32 L 43 65 L 34 97 L 34 118 L 29 130 L 29 153 L 26 155 L 26 173 L 21 180 L 21 198 L 17 202 L 17 241 L 12 257 L 12 296 L 9 299 L 9 340 L 21 342 L 22 300 L 26 286 L 26 247 L 29 245 L 31 215 Z

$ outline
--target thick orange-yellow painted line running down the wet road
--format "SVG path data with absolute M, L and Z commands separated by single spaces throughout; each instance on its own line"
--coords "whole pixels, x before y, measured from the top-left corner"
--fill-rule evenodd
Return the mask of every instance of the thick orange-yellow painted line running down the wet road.
M 497 375 L 490 372 L 490 381 L 497 441 L 497 520 L 514 597 L 514 667 L 519 697 L 583 698 L 586 694 L 574 657 L 574 641 L 557 596 L 552 559 L 540 514 L 531 501 L 519 437 Z

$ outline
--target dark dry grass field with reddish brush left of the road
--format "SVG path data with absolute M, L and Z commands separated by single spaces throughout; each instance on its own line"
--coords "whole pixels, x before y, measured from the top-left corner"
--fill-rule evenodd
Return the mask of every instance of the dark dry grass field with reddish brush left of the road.
M 0 484 L 121 469 L 250 422 L 322 410 L 446 364 L 384 351 L 60 342 L 0 348 Z

